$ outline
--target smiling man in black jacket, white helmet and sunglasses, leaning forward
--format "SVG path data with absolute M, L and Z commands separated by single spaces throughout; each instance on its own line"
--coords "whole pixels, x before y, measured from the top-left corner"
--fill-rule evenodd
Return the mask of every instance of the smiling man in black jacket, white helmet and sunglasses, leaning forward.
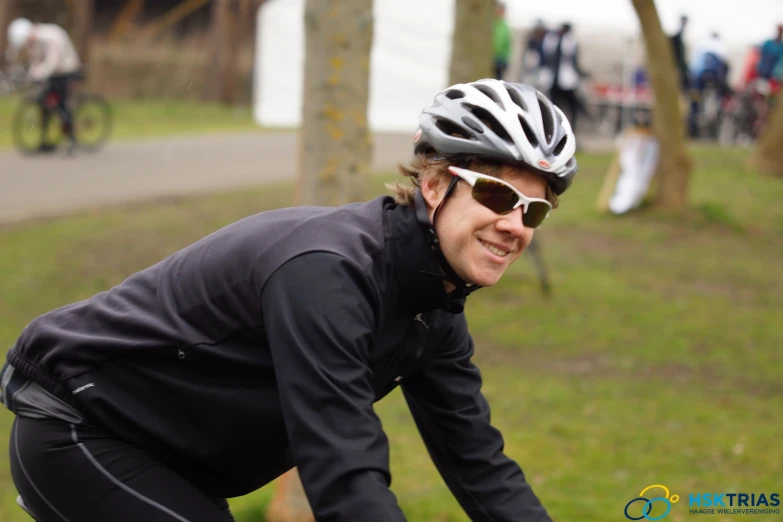
M 472 520 L 549 521 L 490 424 L 463 307 L 576 173 L 563 113 L 439 93 L 394 198 L 262 212 L 32 321 L 0 376 L 41 522 L 231 520 L 293 466 L 316 520 L 405 520 L 373 404 L 400 385 Z

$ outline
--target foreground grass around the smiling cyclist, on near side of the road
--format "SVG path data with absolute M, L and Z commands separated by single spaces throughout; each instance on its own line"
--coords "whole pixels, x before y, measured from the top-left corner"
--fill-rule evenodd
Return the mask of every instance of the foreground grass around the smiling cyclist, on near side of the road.
M 676 219 L 599 215 L 610 157 L 582 156 L 539 235 L 554 295 L 540 297 L 523 257 L 469 300 L 493 421 L 556 520 L 625 520 L 625 504 L 651 484 L 680 496 L 665 519 L 674 522 L 698 519 L 690 493 L 781 493 L 783 180 L 745 169 L 743 151 L 693 154 L 693 210 Z M 38 314 L 292 194 L 276 185 L 0 230 L 0 344 Z M 378 411 L 408 519 L 466 521 L 400 394 Z M 2 444 L 10 422 L 0 414 Z M 0 453 L 0 518 L 21 522 L 6 470 Z M 233 499 L 237 520 L 263 520 L 272 494 L 270 485 Z

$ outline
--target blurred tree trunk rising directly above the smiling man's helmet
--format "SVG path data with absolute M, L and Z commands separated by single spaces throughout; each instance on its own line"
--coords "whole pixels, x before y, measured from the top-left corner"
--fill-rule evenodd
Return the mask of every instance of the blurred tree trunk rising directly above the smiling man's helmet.
M 449 84 L 492 78 L 493 0 L 456 0 Z

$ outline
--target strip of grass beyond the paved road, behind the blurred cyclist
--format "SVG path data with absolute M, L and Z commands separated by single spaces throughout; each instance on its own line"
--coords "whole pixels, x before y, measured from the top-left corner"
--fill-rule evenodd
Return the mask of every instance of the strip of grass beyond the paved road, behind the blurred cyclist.
M 20 97 L 0 97 L 0 150 L 12 146 L 11 120 Z M 113 109 L 112 139 L 259 131 L 250 107 L 181 100 L 109 100 Z

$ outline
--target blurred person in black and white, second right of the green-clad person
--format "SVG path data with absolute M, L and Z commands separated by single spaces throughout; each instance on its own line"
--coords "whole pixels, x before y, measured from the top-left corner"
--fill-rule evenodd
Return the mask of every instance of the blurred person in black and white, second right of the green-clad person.
M 571 127 L 576 131 L 577 114 L 587 114 L 579 98 L 580 82 L 588 78 L 589 74 L 579 65 L 579 45 L 573 36 L 571 24 L 564 23 L 559 31 L 548 33 L 541 47 L 541 88 L 547 90 L 552 102 L 566 112 Z

